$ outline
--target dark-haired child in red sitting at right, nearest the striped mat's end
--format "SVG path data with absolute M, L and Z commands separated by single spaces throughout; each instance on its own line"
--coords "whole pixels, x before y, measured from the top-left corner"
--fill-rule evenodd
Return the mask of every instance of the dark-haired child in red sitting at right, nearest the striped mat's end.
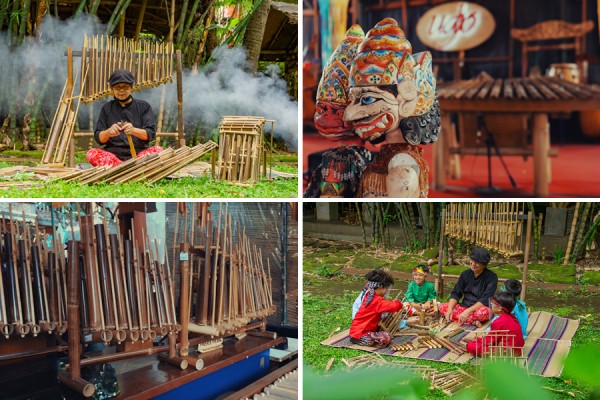
M 485 337 L 467 343 L 467 351 L 473 355 L 481 355 L 490 351 L 490 346 L 515 347 L 515 355 L 521 355 L 525 344 L 521 325 L 511 314 L 515 307 L 515 298 L 506 292 L 497 293 L 491 300 L 492 311 L 498 318 L 492 322 L 492 329 Z M 500 332 L 502 331 L 502 332 Z

